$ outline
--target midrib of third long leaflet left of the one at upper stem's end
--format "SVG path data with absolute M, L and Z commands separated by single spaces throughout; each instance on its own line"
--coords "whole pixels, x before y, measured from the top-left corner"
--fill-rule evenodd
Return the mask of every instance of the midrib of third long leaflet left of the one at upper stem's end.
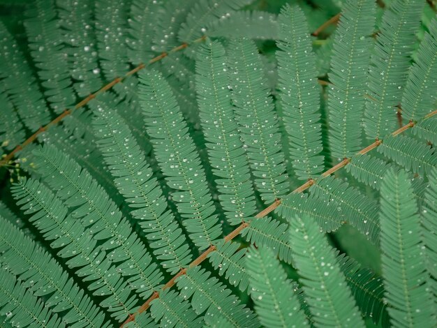
M 142 269 L 141 269 L 140 265 L 138 264 L 138 262 L 134 260 L 133 255 L 132 255 L 132 252 L 129 251 L 128 248 L 126 248 L 126 246 L 124 245 L 124 241 L 126 241 L 126 240 L 121 240 L 121 239 L 119 239 L 119 234 L 117 234 L 117 230 L 114 230 L 114 229 L 112 228 L 112 225 L 110 225 L 110 224 L 108 223 L 108 221 L 106 220 L 105 216 L 101 213 L 101 211 L 98 210 L 98 208 L 96 207 L 96 205 L 94 204 L 94 202 L 93 202 L 92 200 L 89 200 L 89 198 L 87 197 L 87 193 L 84 193 L 84 191 L 82 191 L 82 188 L 80 188 L 79 186 L 77 186 L 77 184 L 75 184 L 73 181 L 71 181 L 71 179 L 69 179 L 68 176 L 67 176 L 66 174 L 64 174 L 64 171 L 61 170 L 61 167 L 58 167 L 58 166 L 56 165 L 56 163 L 54 163 L 53 161 L 50 160 L 50 158 L 47 158 L 47 156 L 45 156 L 45 160 L 46 160 L 46 161 L 50 161 L 50 163 L 51 163 L 54 167 L 56 167 L 57 172 L 59 172 L 59 174 L 61 174 L 61 175 L 64 177 L 64 179 L 66 179 L 66 180 L 67 180 L 67 181 L 68 181 L 72 186 L 74 186 L 75 189 L 76 189 L 76 191 L 79 192 L 80 195 L 82 195 L 82 199 L 86 200 L 86 201 L 87 201 L 87 204 L 89 204 L 89 206 L 91 206 L 91 207 L 94 208 L 94 211 L 96 211 L 96 213 L 98 214 L 98 216 L 100 216 L 100 219 L 105 223 L 105 228 L 108 229 L 108 230 L 110 230 L 110 231 L 112 232 L 112 236 L 113 236 L 112 238 L 117 239 L 118 247 L 116 247 L 115 249 L 120 248 L 120 247 L 123 249 L 124 254 L 125 254 L 125 255 L 128 255 L 128 258 L 131 260 L 131 263 L 133 263 L 133 264 L 135 265 L 135 267 L 138 269 L 139 275 L 140 275 L 140 277 L 142 278 L 142 282 L 147 283 L 147 285 L 149 285 L 150 290 L 154 290 L 154 286 L 151 285 L 149 279 L 147 279 L 147 276 L 145 276 L 145 273 L 144 273 L 144 271 L 142 271 Z M 82 173 L 82 172 L 81 172 L 81 173 Z M 92 182 L 91 182 L 91 183 L 92 183 Z M 108 197 L 108 201 L 109 201 L 109 202 L 112 202 L 112 201 L 109 199 L 109 197 Z M 123 216 L 121 216 L 121 220 L 120 220 L 120 222 L 121 222 L 121 221 L 123 221 Z M 129 226 L 130 226 L 130 225 L 129 225 Z M 135 233 L 135 232 L 133 232 L 133 233 Z M 126 238 L 126 239 L 127 239 L 127 238 Z

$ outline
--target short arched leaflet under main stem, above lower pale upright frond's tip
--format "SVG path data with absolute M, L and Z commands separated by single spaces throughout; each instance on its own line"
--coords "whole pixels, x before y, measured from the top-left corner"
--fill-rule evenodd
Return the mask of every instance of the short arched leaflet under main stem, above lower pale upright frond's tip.
M 291 193 L 283 197 L 277 213 L 286 220 L 296 215 L 311 216 L 324 232 L 335 231 L 345 223 L 345 218 L 339 215 L 338 207 L 334 202 L 304 193 Z

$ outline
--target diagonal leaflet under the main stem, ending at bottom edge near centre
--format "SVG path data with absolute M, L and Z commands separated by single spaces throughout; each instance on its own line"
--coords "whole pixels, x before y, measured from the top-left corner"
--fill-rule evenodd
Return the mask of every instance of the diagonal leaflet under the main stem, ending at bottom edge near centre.
M 217 316 L 223 316 L 231 327 L 259 327 L 254 313 L 239 304 L 237 297 L 230 290 L 210 277 L 200 267 L 193 267 L 184 276 L 177 279 L 177 287 L 184 299 L 191 299 L 195 313 L 205 313 L 205 322 L 214 322 Z

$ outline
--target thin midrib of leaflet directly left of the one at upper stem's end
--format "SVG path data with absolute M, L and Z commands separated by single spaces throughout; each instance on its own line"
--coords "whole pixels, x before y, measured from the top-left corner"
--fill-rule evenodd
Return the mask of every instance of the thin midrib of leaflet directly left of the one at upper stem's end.
M 181 170 L 179 170 L 179 172 L 182 172 L 182 175 L 184 176 L 184 181 L 185 181 L 185 185 L 186 187 L 188 187 L 189 184 L 189 180 L 188 176 L 186 175 L 186 170 L 185 170 L 185 165 L 184 165 L 184 161 L 181 161 L 181 158 L 179 156 L 179 151 L 177 150 L 176 147 L 176 142 L 175 142 L 175 137 L 173 137 L 171 128 L 168 126 L 168 122 L 167 119 L 165 119 L 165 110 L 164 110 L 164 106 L 161 103 L 161 98 L 158 96 L 158 90 L 155 89 L 154 85 L 150 86 L 152 89 L 152 92 L 154 94 L 154 98 L 156 99 L 156 103 L 158 103 L 158 108 L 159 108 L 159 112 L 161 113 L 161 117 L 163 118 L 163 123 L 165 126 L 165 130 L 166 130 L 166 135 L 170 140 L 170 143 L 172 145 L 172 148 L 174 150 L 174 154 L 177 158 L 177 162 L 179 163 L 179 167 L 181 168 Z M 182 167 L 184 168 L 182 170 Z M 205 226 L 205 223 L 203 222 L 204 218 L 202 217 L 201 211 L 200 211 L 200 204 L 198 202 L 198 200 L 195 198 L 195 195 L 193 193 L 193 189 L 192 188 L 187 188 L 188 189 L 188 193 L 190 193 L 190 198 L 191 198 L 191 207 L 195 208 L 195 212 L 193 213 L 193 215 L 195 216 L 194 219 L 196 219 L 196 221 L 198 221 L 200 223 L 200 225 L 202 225 L 202 230 L 203 233 L 205 234 L 205 237 L 207 238 L 207 241 L 209 243 L 210 246 L 212 246 L 212 239 L 209 236 L 208 230 Z

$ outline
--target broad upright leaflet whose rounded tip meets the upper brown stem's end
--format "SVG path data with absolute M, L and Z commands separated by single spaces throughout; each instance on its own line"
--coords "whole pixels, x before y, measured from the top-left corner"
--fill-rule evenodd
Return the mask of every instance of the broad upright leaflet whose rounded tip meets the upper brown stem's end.
M 229 223 L 237 225 L 250 221 L 256 209 L 249 163 L 232 110 L 227 64 L 224 47 L 207 40 L 195 62 L 195 81 L 209 163 L 218 177 L 218 199 Z

